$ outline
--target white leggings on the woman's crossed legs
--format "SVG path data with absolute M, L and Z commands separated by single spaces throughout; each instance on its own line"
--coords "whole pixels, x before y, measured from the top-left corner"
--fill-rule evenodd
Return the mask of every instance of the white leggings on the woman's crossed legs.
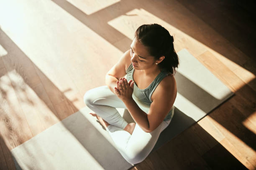
M 108 86 L 96 87 L 84 94 L 84 103 L 110 125 L 107 131 L 113 139 L 120 154 L 130 164 L 140 163 L 146 159 L 154 148 L 160 133 L 171 120 L 163 121 L 154 131 L 146 133 L 136 123 L 132 135 L 123 130 L 128 124 L 116 108 L 126 108 Z

